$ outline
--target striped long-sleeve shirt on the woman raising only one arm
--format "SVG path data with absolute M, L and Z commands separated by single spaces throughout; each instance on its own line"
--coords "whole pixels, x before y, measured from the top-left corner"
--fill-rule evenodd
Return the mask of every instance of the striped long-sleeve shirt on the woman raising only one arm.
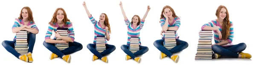
M 96 21 L 93 18 L 93 16 L 90 16 L 89 19 L 94 25 L 94 40 L 93 40 L 93 43 L 96 43 L 97 35 L 107 35 L 106 30 L 105 30 L 106 27 L 102 27 L 102 25 L 98 21 Z M 108 31 L 108 34 L 109 34 L 109 31 Z M 109 34 L 109 36 L 110 36 L 110 34 Z M 108 43 L 107 39 L 105 39 L 105 43 L 106 44 Z

